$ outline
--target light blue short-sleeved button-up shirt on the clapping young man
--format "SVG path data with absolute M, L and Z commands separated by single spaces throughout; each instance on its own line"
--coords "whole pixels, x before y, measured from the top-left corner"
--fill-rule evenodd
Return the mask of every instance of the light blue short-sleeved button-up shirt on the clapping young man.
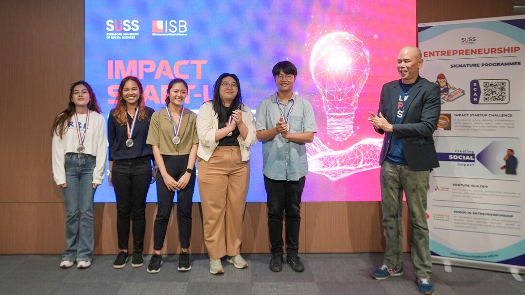
M 288 114 L 293 103 L 293 110 L 288 119 L 290 133 L 317 132 L 316 118 L 310 102 L 295 96 L 286 104 L 279 99 L 277 104 L 275 93 L 259 102 L 255 113 L 256 130 L 269 130 L 281 118 L 281 111 Z M 308 174 L 306 145 L 283 139 L 281 134 L 262 142 L 262 173 L 272 180 L 298 181 Z

